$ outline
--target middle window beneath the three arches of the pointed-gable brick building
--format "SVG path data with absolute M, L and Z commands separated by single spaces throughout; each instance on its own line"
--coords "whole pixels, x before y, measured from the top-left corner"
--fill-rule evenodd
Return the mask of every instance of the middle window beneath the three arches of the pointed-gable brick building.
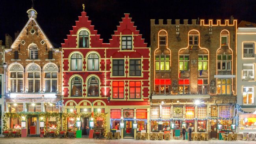
M 28 92 L 40 92 L 40 72 L 28 72 Z

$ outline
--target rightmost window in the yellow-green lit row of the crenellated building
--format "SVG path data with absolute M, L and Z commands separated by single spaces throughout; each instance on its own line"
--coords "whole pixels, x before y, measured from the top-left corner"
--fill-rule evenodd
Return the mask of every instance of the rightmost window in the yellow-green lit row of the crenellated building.
M 232 55 L 217 55 L 217 60 L 218 70 L 231 70 Z

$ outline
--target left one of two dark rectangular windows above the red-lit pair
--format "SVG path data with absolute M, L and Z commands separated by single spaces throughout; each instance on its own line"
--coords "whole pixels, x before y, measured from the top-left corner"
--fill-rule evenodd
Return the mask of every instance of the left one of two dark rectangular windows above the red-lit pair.
M 113 76 L 124 76 L 124 60 L 113 60 Z

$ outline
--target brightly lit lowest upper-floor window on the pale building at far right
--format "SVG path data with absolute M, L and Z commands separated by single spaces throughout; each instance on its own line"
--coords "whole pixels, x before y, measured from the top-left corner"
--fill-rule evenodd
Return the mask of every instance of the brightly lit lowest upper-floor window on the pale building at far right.
M 254 103 L 254 87 L 243 87 L 243 104 Z

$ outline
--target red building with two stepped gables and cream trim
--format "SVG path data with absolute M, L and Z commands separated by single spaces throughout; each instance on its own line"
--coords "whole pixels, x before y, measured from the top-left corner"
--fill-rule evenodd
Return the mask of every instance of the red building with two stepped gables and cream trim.
M 62 44 L 64 112 L 106 113 L 106 130 L 119 129 L 121 137 L 149 131 L 150 48 L 125 14 L 109 43 L 103 43 L 83 11 Z M 82 117 L 82 135 L 91 117 Z M 67 118 L 67 128 L 74 119 Z M 96 126 L 105 122 L 97 119 Z

